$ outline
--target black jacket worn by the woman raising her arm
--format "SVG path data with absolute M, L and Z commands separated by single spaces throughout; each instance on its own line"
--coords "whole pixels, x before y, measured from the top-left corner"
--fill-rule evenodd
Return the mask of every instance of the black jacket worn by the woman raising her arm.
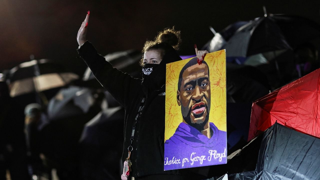
M 171 46 L 170 46 L 171 47 Z M 164 116 L 165 116 L 165 64 L 181 60 L 171 47 L 153 72 L 141 79 L 123 73 L 97 53 L 93 45 L 86 41 L 78 53 L 92 70 L 101 85 L 125 108 L 124 151 L 122 161 L 128 156 L 128 146 L 132 125 L 137 116 L 143 97 L 145 107 L 141 113 L 134 135 L 132 176 L 156 174 L 190 174 L 190 170 L 164 171 Z

